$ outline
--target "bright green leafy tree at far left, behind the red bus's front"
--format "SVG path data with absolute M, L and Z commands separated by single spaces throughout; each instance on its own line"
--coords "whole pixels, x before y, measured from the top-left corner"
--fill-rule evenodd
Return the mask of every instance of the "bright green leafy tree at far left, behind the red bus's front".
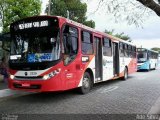
M 39 15 L 40 0 L 0 0 L 1 26 L 3 32 L 9 31 L 9 25 L 19 19 Z

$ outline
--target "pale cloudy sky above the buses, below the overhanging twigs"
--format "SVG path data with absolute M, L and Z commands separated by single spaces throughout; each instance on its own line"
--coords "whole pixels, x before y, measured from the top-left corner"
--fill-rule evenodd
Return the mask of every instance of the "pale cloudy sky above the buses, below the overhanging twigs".
M 136 27 L 134 24 L 128 25 L 127 21 L 119 21 L 116 23 L 113 15 L 109 13 L 107 14 L 105 9 L 91 14 L 97 8 L 98 4 L 96 4 L 96 1 L 97 0 L 94 0 L 95 3 L 93 3 L 93 0 L 92 2 L 89 2 L 87 15 L 90 19 L 93 19 L 96 22 L 97 30 L 103 32 L 105 29 L 114 29 L 115 33 L 124 32 L 127 34 L 132 39 L 133 43 L 137 45 L 137 47 L 142 46 L 149 49 L 153 47 L 160 48 L 160 17 L 158 17 L 153 11 L 150 11 L 148 16 L 144 16 L 144 21 L 140 27 Z M 141 5 L 138 2 L 137 4 Z

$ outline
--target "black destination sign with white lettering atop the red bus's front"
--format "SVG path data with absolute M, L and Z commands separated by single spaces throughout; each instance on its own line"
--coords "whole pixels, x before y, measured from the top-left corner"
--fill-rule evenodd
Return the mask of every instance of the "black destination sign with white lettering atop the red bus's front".
M 58 18 L 39 16 L 16 21 L 11 24 L 10 29 L 11 32 L 32 32 L 32 30 L 39 31 L 51 29 L 51 27 L 59 27 Z

